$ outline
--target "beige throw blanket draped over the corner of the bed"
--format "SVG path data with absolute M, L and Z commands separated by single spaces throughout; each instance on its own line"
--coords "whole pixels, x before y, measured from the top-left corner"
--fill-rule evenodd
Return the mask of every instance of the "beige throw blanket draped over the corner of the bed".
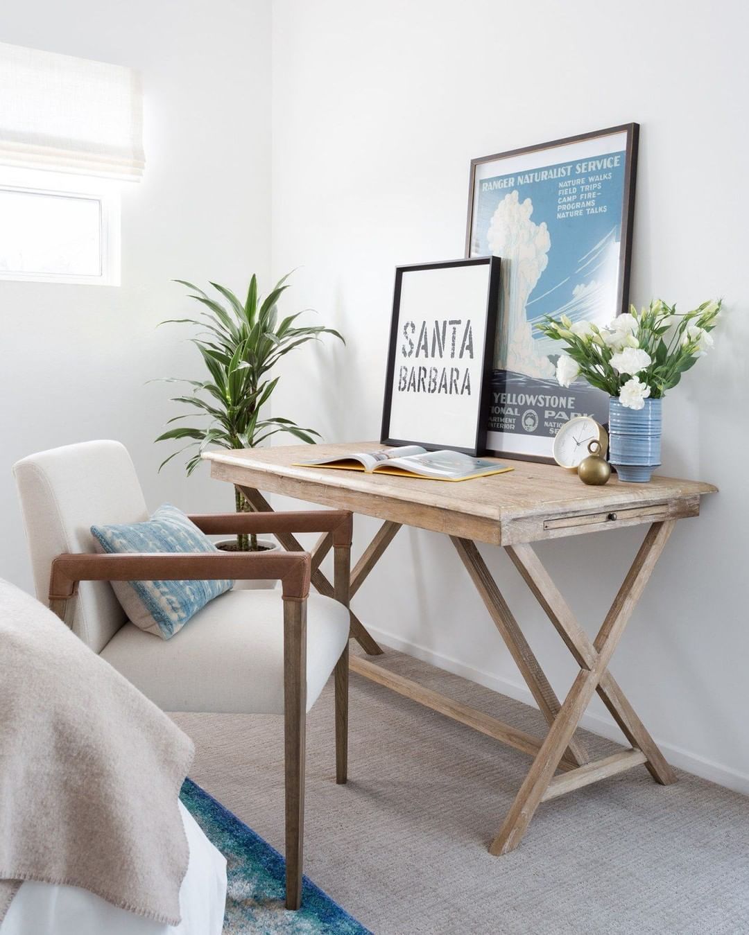
M 22 880 L 180 922 L 192 741 L 51 611 L 0 579 L 0 922 Z

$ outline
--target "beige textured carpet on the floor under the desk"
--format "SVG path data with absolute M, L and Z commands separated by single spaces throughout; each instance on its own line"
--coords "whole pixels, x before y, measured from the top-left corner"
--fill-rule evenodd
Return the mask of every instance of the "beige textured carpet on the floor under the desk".
M 544 730 L 526 705 L 387 659 Z M 639 767 L 541 805 L 520 848 L 493 857 L 528 757 L 356 675 L 351 705 L 347 786 L 335 784 L 330 685 L 310 713 L 305 870 L 378 935 L 749 932 L 749 798 L 684 773 L 659 786 Z M 281 719 L 175 719 L 195 741 L 194 781 L 282 851 Z M 601 755 L 615 749 L 583 736 Z

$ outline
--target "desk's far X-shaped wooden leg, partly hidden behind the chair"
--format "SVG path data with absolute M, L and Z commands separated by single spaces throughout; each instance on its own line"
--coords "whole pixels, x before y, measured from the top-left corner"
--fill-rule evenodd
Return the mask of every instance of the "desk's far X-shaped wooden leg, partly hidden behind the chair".
M 252 510 L 257 512 L 272 512 L 273 508 L 267 502 L 265 496 L 263 496 L 259 490 L 255 490 L 254 487 L 239 487 L 242 494 L 244 494 L 247 502 L 252 506 Z M 392 527 L 392 528 L 391 528 Z M 385 523 L 382 525 L 382 528 L 377 533 L 375 538 L 372 540 L 372 543 L 367 548 L 364 555 L 356 564 L 356 568 L 353 569 L 351 576 L 351 589 L 350 597 L 356 593 L 356 591 L 361 586 L 364 579 L 369 574 L 369 571 L 374 568 L 375 563 L 380 558 L 384 550 L 390 544 L 391 539 L 396 535 L 396 532 L 400 528 L 400 525 L 397 523 Z M 296 539 L 296 537 L 290 532 L 277 532 L 274 533 L 276 539 L 281 542 L 281 546 L 289 552 L 304 552 L 304 547 L 301 542 Z M 323 572 L 320 570 L 320 564 L 323 561 L 325 554 L 330 551 L 330 547 L 333 544 L 333 537 L 329 533 L 325 533 L 323 536 L 318 539 L 315 546 L 312 549 L 312 577 L 311 582 L 313 587 L 325 597 L 335 597 L 335 591 L 333 585 L 328 581 Z M 362 649 L 369 655 L 381 655 L 382 648 L 377 643 L 377 641 L 372 637 L 364 624 L 359 620 L 356 614 L 353 611 L 351 612 L 351 635 L 353 639 L 356 640 Z

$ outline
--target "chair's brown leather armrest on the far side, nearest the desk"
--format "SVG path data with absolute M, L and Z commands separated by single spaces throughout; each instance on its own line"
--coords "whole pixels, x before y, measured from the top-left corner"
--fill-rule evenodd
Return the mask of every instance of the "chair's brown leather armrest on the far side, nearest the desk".
M 334 546 L 350 546 L 352 542 L 353 516 L 347 510 L 198 513 L 189 519 L 207 536 L 258 532 L 331 532 Z

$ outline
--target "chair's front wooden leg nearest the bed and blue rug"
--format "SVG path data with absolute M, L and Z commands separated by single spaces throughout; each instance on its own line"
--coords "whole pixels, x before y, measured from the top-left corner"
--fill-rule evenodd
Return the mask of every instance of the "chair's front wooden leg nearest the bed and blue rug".
M 286 791 L 286 908 L 302 901 L 307 722 L 307 601 L 283 601 L 283 741 Z

